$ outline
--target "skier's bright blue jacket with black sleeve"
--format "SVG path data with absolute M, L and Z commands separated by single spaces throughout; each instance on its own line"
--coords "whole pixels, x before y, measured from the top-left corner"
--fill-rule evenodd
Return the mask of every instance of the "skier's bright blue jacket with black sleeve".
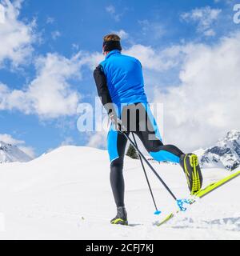
M 101 72 L 104 78 L 100 75 Z M 94 78 L 98 95 L 106 98 L 103 104 L 110 103 L 110 100 L 118 107 L 138 102 L 147 103 L 142 65 L 137 58 L 121 54 L 120 50 L 112 50 L 94 71 Z M 103 95 L 108 93 L 110 97 Z

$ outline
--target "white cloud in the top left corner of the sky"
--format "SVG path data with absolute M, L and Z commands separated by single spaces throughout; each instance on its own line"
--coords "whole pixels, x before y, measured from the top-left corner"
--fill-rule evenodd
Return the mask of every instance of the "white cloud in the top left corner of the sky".
M 34 22 L 26 24 L 18 19 L 22 1 L 2 0 L 1 9 L 4 10 L 4 20 L 0 22 L 0 66 L 5 60 L 10 60 L 13 66 L 26 62 L 26 58 L 33 51 Z

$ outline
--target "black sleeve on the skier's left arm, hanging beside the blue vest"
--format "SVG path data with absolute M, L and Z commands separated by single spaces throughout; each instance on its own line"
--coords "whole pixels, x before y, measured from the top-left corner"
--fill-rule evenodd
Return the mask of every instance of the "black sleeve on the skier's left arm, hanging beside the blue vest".
M 108 90 L 106 76 L 102 71 L 102 66 L 99 65 L 94 70 L 94 80 L 98 90 L 98 96 L 101 98 L 102 105 L 105 107 L 107 114 L 110 114 L 114 111 L 114 106 L 112 99 L 110 97 L 110 92 Z

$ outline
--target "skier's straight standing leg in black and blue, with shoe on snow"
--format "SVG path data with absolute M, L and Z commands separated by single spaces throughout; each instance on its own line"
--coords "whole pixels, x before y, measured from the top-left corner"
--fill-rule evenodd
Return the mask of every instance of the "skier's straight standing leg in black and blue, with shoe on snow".
M 124 203 L 125 185 L 122 173 L 127 141 L 124 135 L 113 130 L 111 126 L 107 142 L 108 152 L 110 154 L 110 184 L 117 206 L 117 216 L 111 223 L 127 225 L 127 214 Z

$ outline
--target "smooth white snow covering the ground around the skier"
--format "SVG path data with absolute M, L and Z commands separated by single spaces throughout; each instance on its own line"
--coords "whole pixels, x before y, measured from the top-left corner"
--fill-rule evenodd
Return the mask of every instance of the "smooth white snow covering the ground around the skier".
M 181 167 L 152 162 L 178 198 L 188 189 Z M 240 239 L 240 178 L 222 186 L 165 226 L 154 226 L 176 206 L 148 174 L 162 214 L 154 215 L 141 164 L 126 158 L 126 208 L 130 226 L 110 225 L 116 214 L 105 150 L 63 146 L 31 162 L 0 165 L 0 239 Z M 204 169 L 203 186 L 230 174 Z M 1 222 L 0 222 L 1 223 Z

